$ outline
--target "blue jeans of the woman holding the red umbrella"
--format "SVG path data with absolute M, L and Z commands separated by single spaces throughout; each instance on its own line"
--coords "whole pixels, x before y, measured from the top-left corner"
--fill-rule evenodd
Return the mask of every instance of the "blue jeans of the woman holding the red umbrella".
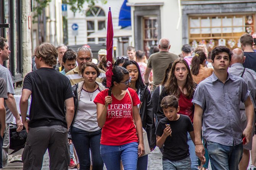
M 131 142 L 120 146 L 100 145 L 100 155 L 107 170 L 120 170 L 120 161 L 124 170 L 136 170 L 138 143 Z

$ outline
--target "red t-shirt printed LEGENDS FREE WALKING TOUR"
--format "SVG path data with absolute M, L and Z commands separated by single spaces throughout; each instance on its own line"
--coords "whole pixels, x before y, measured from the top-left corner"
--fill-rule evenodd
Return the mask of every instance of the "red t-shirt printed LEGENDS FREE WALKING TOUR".
M 105 96 L 108 95 L 108 90 L 100 91 L 94 103 L 105 104 Z M 133 100 L 133 107 L 137 107 L 140 103 L 139 97 L 132 88 L 128 88 Z M 100 144 L 118 146 L 131 142 L 138 142 L 136 128 L 133 123 L 133 112 L 131 99 L 126 92 L 123 99 L 118 100 L 113 95 L 112 104 L 109 104 L 107 110 L 106 122 L 102 128 Z

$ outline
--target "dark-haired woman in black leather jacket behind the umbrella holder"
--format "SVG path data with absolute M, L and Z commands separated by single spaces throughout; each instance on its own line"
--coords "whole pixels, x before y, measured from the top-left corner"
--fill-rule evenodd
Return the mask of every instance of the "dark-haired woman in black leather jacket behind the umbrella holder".
M 147 132 L 149 148 L 151 151 L 156 147 L 156 127 L 154 123 L 153 107 L 151 101 L 151 93 L 146 85 L 144 85 L 139 65 L 136 61 L 125 61 L 123 63 L 131 77 L 130 87 L 136 91 L 141 103 L 138 105 L 139 115 L 141 116 L 142 127 Z M 139 157 L 137 170 L 147 170 L 147 155 Z

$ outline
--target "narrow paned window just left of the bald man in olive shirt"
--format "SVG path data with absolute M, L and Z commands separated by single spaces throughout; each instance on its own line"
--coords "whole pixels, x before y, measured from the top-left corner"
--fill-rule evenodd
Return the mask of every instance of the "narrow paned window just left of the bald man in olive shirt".
M 143 50 L 149 58 L 150 50 L 157 46 L 158 23 L 157 17 L 143 18 Z

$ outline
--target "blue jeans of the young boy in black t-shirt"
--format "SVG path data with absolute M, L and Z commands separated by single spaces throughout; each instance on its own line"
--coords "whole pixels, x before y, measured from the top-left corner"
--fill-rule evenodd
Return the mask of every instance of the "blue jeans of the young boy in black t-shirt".
M 190 170 L 190 167 L 190 156 L 177 161 L 163 160 L 163 170 Z

